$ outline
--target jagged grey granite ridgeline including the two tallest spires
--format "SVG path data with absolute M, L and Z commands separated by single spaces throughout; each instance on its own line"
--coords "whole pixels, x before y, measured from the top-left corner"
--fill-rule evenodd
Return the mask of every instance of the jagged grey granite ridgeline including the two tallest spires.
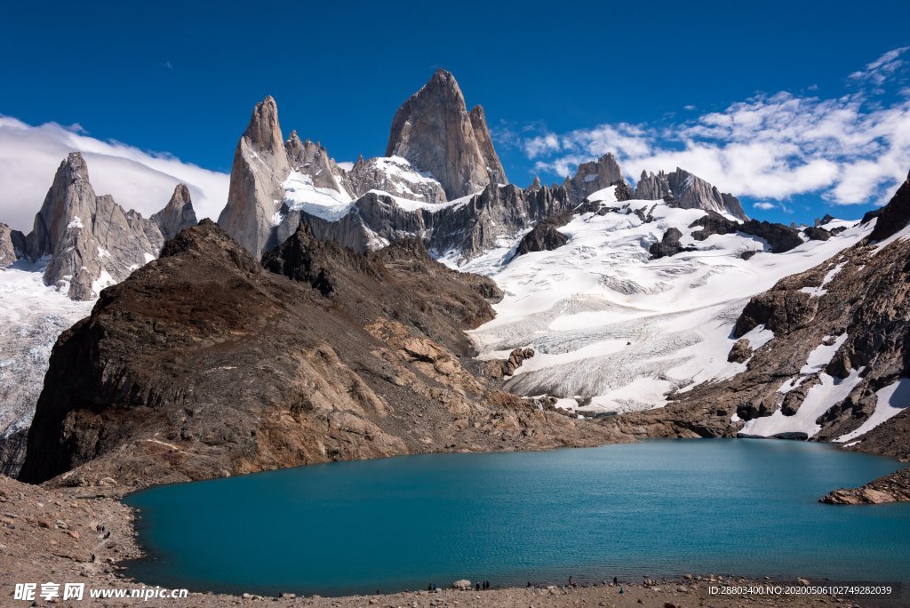
M 357 251 L 420 238 L 435 256 L 467 260 L 503 238 L 521 237 L 544 219 L 571 214 L 606 187 L 615 187 L 619 201 L 636 195 L 612 154 L 582 163 L 575 176 L 558 186 L 542 186 L 536 177 L 526 189 L 509 185 L 482 108 L 469 112 L 458 83 L 444 70 L 399 107 L 386 155 L 361 157 L 345 170 L 324 147 L 301 142 L 296 132 L 283 141 L 278 107 L 267 97 L 254 109 L 238 143 L 227 207 L 218 224 L 259 257 L 306 222 L 317 238 Z M 293 200 L 298 195 L 288 193 L 292 174 L 321 189 L 312 194 L 313 201 L 328 193 L 338 205 L 320 213 Z M 650 185 L 657 181 L 666 186 Z M 682 169 L 669 176 L 642 176 L 637 194 L 745 219 L 735 197 Z M 401 199 L 420 205 L 401 204 Z M 532 238 L 539 236 L 546 241 L 541 246 L 549 248 L 561 239 L 552 229 Z

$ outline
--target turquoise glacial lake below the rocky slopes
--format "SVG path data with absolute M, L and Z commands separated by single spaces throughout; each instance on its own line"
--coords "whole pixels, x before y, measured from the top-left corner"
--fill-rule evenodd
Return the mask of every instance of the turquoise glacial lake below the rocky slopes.
M 128 496 L 143 583 L 343 595 L 734 573 L 910 582 L 910 504 L 827 491 L 901 463 L 804 441 L 643 441 L 321 464 Z

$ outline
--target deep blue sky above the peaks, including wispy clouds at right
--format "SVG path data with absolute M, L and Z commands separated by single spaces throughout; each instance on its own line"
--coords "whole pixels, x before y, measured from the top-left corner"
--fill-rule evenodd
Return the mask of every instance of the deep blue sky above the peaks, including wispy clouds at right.
M 910 169 L 905 2 L 33 2 L 4 14 L 0 115 L 216 171 L 267 94 L 286 134 L 338 160 L 380 155 L 395 110 L 439 66 L 484 106 L 520 185 L 611 149 L 634 177 L 682 164 L 744 195 L 750 215 L 789 222 L 859 217 Z

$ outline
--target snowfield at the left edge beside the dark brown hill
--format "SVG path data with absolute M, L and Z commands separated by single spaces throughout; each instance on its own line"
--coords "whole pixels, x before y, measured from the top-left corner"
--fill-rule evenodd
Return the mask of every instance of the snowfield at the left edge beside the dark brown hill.
M 0 270 L 0 438 L 31 424 L 57 337 L 95 304 L 46 287 L 45 263 Z

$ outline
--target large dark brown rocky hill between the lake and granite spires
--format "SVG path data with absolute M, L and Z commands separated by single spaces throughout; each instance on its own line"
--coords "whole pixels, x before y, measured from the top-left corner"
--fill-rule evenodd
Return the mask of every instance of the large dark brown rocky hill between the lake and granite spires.
M 106 289 L 56 344 L 20 478 L 134 486 L 604 441 L 474 374 L 463 329 L 491 319 L 489 279 L 413 241 L 364 256 L 306 227 L 265 264 L 203 220 Z

